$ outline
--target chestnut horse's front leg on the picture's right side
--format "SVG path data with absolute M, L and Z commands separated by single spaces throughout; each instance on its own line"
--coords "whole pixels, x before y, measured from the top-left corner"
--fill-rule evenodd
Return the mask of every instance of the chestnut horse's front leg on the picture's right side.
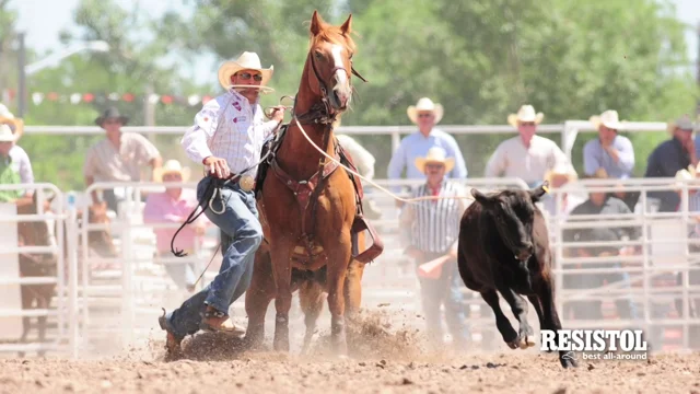
M 345 283 L 351 257 L 350 229 L 341 231 L 335 244 L 324 245 L 328 256 L 327 283 L 328 309 L 330 310 L 330 344 L 332 351 L 341 357 L 348 354 L 346 338 Z

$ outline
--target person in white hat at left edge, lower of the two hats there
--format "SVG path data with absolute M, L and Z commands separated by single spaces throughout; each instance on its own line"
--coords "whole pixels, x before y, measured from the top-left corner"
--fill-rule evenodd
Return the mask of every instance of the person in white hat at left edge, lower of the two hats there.
M 18 136 L 7 124 L 0 124 L 0 184 L 33 184 L 32 162 L 24 149 L 15 143 Z M 0 190 L 0 202 L 13 202 L 32 197 L 33 190 Z

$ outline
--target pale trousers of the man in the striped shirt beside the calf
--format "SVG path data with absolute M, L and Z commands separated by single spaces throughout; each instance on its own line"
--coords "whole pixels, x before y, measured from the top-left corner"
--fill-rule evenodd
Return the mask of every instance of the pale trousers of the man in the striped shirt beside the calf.
M 440 257 L 443 254 L 427 253 L 424 262 Z M 465 289 L 457 268 L 456 259 L 446 262 L 442 267 L 442 274 L 438 279 L 419 277 L 420 292 L 425 315 L 428 336 L 434 345 L 442 344 L 443 329 L 440 306 L 445 305 L 445 321 L 452 334 L 454 345 L 462 347 L 467 343 L 469 332 L 466 324 L 464 305 Z

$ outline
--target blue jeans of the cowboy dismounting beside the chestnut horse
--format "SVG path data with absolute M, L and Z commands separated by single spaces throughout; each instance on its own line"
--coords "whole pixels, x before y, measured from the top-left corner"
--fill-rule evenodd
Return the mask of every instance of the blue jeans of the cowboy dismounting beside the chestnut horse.
M 197 198 L 201 199 L 210 177 L 205 177 L 197 185 Z M 222 201 L 214 200 L 213 207 L 221 215 L 214 213 L 207 206 L 205 215 L 231 237 L 229 247 L 223 253 L 219 275 L 197 294 L 190 297 L 179 309 L 167 316 L 170 329 L 178 337 L 195 334 L 199 331 L 201 313 L 207 305 L 229 314 L 229 306 L 248 289 L 253 278 L 255 252 L 262 242 L 262 227 L 258 220 L 258 210 L 253 192 L 244 192 L 238 184 L 228 186 L 221 193 Z

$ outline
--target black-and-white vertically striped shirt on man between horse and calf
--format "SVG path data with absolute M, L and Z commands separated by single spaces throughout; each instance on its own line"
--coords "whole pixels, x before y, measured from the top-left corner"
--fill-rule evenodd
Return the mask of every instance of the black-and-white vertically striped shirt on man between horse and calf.
M 415 189 L 412 197 L 432 196 L 428 185 Z M 443 181 L 438 196 L 465 196 L 456 183 Z M 459 221 L 466 207 L 463 198 L 422 200 L 408 204 L 401 222 L 410 225 L 410 244 L 421 252 L 446 253 L 457 242 Z

